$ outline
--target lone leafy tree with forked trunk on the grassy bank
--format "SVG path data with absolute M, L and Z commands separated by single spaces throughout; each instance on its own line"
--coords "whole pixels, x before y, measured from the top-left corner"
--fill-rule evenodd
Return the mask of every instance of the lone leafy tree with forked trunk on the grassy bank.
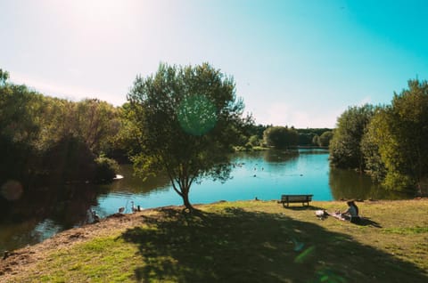
M 185 207 L 189 190 L 202 177 L 226 180 L 229 153 L 239 134 L 243 101 L 235 83 L 209 64 L 161 64 L 150 77 L 136 77 L 128 93 L 129 110 L 141 133 L 136 169 L 147 176 L 164 172 Z

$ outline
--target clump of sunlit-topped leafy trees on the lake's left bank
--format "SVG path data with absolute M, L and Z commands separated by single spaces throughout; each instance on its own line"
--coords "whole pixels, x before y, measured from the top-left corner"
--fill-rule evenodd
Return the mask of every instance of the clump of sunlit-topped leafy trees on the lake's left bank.
M 47 97 L 8 77 L 0 69 L 0 185 L 111 181 L 114 162 L 95 158 L 119 130 L 117 109 Z

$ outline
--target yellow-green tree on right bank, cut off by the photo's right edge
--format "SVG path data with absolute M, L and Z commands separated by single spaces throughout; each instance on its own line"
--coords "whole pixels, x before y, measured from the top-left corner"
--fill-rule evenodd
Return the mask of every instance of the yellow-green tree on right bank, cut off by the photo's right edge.
M 373 173 L 394 190 L 427 190 L 428 82 L 408 81 L 379 110 L 365 136 L 366 159 Z

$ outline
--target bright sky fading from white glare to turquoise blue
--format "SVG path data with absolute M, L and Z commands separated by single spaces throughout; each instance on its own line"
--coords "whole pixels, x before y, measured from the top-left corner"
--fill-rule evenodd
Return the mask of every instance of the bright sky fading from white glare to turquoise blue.
M 70 100 L 121 105 L 160 62 L 233 76 L 257 123 L 333 127 L 428 79 L 428 1 L 0 0 L 0 68 Z

